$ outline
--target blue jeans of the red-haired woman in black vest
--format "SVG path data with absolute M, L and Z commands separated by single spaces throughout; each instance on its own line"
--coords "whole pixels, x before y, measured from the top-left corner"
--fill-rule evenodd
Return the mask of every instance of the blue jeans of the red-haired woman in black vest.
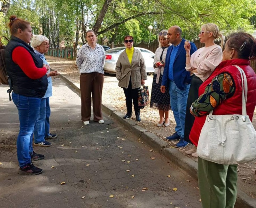
M 31 162 L 33 131 L 39 114 L 41 98 L 26 97 L 14 92 L 11 94 L 11 97 L 17 106 L 20 120 L 20 132 L 17 138 L 17 157 L 20 167 L 25 167 Z

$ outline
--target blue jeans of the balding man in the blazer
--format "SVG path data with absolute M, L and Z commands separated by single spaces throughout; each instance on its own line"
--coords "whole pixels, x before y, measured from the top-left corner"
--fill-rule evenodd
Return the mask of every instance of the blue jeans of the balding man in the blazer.
M 184 90 L 179 89 L 173 81 L 169 81 L 169 93 L 171 109 L 176 121 L 175 131 L 184 138 L 185 117 L 187 97 L 190 85 L 186 85 Z

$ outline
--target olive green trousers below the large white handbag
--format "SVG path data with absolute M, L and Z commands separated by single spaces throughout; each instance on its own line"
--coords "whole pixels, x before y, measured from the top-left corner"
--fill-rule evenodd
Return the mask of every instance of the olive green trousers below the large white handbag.
M 237 165 L 221 165 L 198 157 L 198 183 L 203 208 L 233 208 Z

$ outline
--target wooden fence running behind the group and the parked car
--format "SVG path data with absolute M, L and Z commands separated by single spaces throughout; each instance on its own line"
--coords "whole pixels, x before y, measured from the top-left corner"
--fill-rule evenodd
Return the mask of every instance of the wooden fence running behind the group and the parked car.
M 225 38 L 227 40 L 228 36 Z M 197 49 L 200 49 L 201 47 L 204 47 L 204 43 L 200 43 L 199 37 L 194 38 L 191 40 L 191 42 L 195 43 Z M 215 41 L 216 44 L 220 45 L 220 39 L 217 39 Z M 112 47 L 112 45 L 107 44 L 109 47 Z M 140 43 L 134 43 L 135 47 L 141 47 L 144 49 L 148 49 L 155 53 L 156 49 L 158 48 L 158 41 L 152 41 L 150 44 L 146 42 L 140 42 Z M 124 46 L 123 43 L 114 44 L 114 47 L 120 47 Z M 77 50 L 78 51 L 78 50 Z M 59 58 L 67 58 L 67 59 L 76 59 L 74 56 L 74 49 L 72 47 L 61 47 L 61 48 L 55 48 L 55 49 L 49 49 L 47 55 L 53 56 L 53 57 L 59 57 Z M 256 60 L 252 60 L 250 62 L 250 66 L 253 68 L 253 70 L 256 72 Z

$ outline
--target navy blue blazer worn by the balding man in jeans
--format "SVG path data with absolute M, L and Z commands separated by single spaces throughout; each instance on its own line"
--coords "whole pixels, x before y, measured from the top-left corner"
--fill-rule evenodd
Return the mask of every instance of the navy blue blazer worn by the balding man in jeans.
M 179 50 L 176 54 L 175 60 L 173 62 L 173 78 L 176 86 L 183 90 L 185 89 L 186 84 L 191 83 L 191 77 L 190 72 L 186 71 L 186 50 L 184 48 L 185 39 L 182 39 Z M 194 43 L 190 42 L 191 49 L 190 49 L 190 55 L 193 54 L 197 48 Z M 168 47 L 166 58 L 165 58 L 165 67 L 163 72 L 163 78 L 162 78 L 162 85 L 165 87 L 168 86 L 169 82 L 169 64 L 170 64 L 170 56 L 172 52 L 173 45 Z

